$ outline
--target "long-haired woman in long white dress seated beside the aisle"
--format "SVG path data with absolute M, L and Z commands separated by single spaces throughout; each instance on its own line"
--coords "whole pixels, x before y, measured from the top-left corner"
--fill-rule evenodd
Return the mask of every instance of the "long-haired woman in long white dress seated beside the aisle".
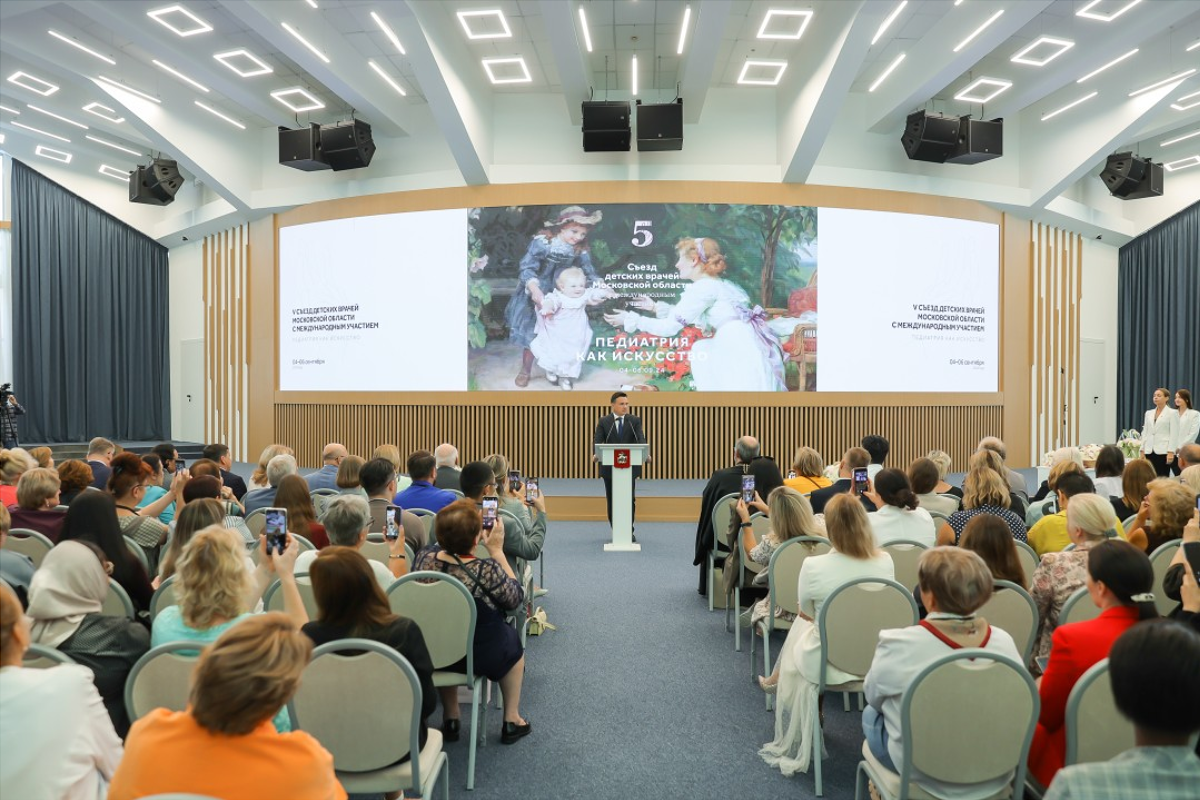
M 820 714 L 817 681 L 824 654 L 816 619 L 838 587 L 857 578 L 895 577 L 892 557 L 875 546 L 871 523 L 857 498 L 839 494 L 826 510 L 826 530 L 833 549 L 804 559 L 799 578 L 800 613 L 787 631 L 770 678 L 760 679 L 763 691 L 778 692 L 775 739 L 758 751 L 767 764 L 784 775 L 806 772 L 812 757 L 812 717 Z M 829 684 L 862 680 L 829 664 Z

